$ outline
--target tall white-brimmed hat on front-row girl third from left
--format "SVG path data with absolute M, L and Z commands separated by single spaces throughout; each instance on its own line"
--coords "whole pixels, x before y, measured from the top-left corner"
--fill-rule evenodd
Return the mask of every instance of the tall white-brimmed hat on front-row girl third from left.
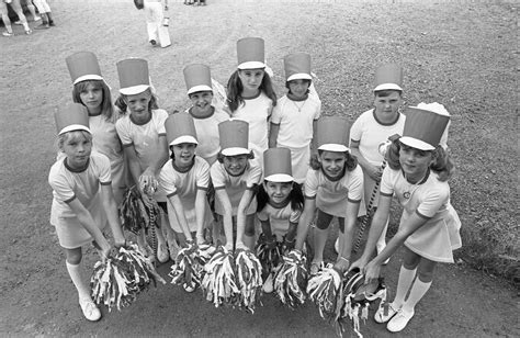
M 249 150 L 249 123 L 229 120 L 218 124 L 221 154 L 224 156 L 247 155 Z

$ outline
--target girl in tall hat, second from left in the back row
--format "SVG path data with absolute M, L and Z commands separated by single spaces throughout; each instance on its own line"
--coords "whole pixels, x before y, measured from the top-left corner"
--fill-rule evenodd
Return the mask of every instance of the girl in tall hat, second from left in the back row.
M 156 98 L 150 90 L 148 63 L 145 59 L 128 58 L 118 61 L 117 74 L 120 77 L 120 93 L 129 114 L 117 120 L 115 128 L 123 143 L 128 171 L 143 198 L 151 193 L 166 213 L 166 193 L 158 185 L 156 178 L 160 168 L 168 160 L 165 131 L 165 121 L 168 113 L 161 109 L 152 109 Z M 167 222 L 161 213 L 161 224 L 168 225 Z M 165 228 L 168 230 L 169 225 Z M 157 259 L 159 262 L 166 262 L 168 260 L 168 248 L 165 237 L 160 230 L 156 230 L 156 234 L 158 240 Z M 147 249 L 144 243 L 144 234 L 137 236 L 137 243 L 142 249 Z M 170 251 L 172 251 L 170 252 L 171 258 L 174 259 L 177 250 L 173 243 L 169 243 L 169 245 Z

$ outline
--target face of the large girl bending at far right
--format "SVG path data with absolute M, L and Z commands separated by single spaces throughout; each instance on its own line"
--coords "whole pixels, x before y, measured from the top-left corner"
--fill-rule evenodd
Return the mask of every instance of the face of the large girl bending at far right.
M 410 183 L 417 183 L 421 180 L 431 162 L 433 161 L 433 151 L 420 150 L 404 144 L 400 144 L 399 164 Z

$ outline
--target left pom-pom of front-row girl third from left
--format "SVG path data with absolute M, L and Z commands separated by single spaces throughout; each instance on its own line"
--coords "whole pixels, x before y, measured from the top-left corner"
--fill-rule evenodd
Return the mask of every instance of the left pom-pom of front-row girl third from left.
M 240 293 L 234 271 L 235 261 L 233 254 L 225 247 L 219 247 L 210 261 L 204 266 L 202 290 L 206 300 L 215 307 L 221 305 L 238 305 Z

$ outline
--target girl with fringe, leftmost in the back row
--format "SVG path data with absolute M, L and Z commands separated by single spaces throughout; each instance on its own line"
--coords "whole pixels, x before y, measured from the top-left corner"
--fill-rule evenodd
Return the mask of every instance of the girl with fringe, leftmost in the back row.
M 89 125 L 92 133 L 92 149 L 110 159 L 112 190 L 117 205 L 123 201 L 126 189 L 125 159 L 115 122 L 120 117 L 114 113 L 110 88 L 101 76 L 98 58 L 91 52 L 79 52 L 66 59 L 72 80 L 72 100 L 81 103 L 89 112 Z

